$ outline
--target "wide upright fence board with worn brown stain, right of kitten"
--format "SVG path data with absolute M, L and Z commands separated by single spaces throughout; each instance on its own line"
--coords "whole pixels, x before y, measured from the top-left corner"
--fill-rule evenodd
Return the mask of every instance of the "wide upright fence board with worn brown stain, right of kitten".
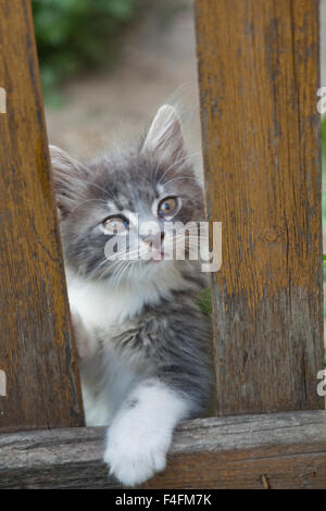
M 317 0 L 196 1 L 220 414 L 324 408 Z

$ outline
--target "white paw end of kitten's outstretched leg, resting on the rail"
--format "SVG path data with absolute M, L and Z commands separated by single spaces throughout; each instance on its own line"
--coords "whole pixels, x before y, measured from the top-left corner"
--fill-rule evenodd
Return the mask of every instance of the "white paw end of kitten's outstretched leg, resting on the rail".
M 130 414 L 131 415 L 131 414 Z M 104 461 L 124 486 L 136 486 L 165 469 L 172 434 L 150 431 L 131 416 L 121 416 L 108 433 Z

